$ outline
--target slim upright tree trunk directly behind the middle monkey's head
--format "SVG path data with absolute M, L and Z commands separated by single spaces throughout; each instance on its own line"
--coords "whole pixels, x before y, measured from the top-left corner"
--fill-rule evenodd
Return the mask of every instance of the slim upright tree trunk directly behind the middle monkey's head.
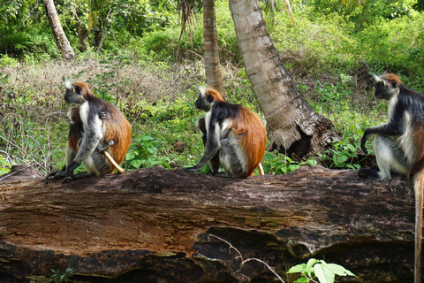
M 215 0 L 203 0 L 203 45 L 207 84 L 224 96 L 223 74 L 219 65 Z

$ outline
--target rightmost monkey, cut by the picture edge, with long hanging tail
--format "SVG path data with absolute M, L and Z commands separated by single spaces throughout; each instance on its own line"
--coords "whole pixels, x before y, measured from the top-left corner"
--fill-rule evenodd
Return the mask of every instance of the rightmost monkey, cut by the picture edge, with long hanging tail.
M 360 168 L 360 177 L 390 180 L 390 172 L 414 174 L 415 191 L 415 269 L 414 282 L 420 282 L 422 246 L 422 205 L 424 188 L 424 96 L 405 88 L 398 76 L 383 73 L 375 77 L 375 97 L 389 100 L 389 121 L 368 127 L 360 142 L 367 153 L 367 136 L 376 134 L 375 157 L 379 171 Z

